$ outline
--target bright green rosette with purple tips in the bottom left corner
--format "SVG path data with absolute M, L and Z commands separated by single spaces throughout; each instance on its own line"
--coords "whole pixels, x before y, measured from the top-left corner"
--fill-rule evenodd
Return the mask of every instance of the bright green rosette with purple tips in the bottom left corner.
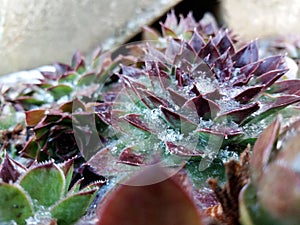
M 0 160 L 1 224 L 75 224 L 103 184 L 94 182 L 80 190 L 80 180 L 71 186 L 74 159 L 29 168 L 8 154 Z

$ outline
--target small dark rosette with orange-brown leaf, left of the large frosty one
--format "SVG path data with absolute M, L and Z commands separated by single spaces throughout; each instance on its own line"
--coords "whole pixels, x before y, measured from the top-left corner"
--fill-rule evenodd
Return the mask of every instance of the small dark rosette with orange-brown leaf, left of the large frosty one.
M 93 112 L 95 104 L 74 99 L 57 109 L 27 111 L 26 124 L 33 135 L 22 149 L 22 156 L 56 162 L 74 156 L 81 160 L 90 158 L 114 135 L 108 124 Z

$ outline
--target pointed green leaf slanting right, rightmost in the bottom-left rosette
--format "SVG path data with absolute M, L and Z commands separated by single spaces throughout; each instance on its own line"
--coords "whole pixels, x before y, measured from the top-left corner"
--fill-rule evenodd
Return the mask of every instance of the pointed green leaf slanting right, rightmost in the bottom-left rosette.
M 74 224 L 86 212 L 96 190 L 77 193 L 63 199 L 51 209 L 52 217 L 57 219 L 59 225 Z

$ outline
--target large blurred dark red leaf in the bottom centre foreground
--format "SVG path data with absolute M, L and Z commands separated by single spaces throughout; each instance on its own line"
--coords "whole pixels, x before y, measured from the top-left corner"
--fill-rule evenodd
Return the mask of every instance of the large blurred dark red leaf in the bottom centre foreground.
M 149 185 L 120 185 L 100 202 L 98 225 L 201 225 L 201 218 L 189 195 L 169 178 L 152 183 L 157 176 L 167 176 L 160 168 L 144 170 L 128 183 Z

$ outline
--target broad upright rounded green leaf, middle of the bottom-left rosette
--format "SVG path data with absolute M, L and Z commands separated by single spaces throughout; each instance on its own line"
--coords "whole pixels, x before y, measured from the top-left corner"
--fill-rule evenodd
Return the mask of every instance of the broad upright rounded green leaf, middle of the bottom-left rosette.
M 19 180 L 20 185 L 39 205 L 51 206 L 62 198 L 65 188 L 63 171 L 53 162 L 30 169 Z

